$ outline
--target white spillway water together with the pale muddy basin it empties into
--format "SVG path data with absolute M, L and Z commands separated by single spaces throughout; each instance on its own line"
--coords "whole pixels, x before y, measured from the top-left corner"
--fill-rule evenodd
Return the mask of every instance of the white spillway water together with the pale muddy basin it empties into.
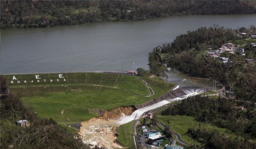
M 122 146 L 119 146 L 114 142 L 114 140 L 116 139 L 116 136 L 112 132 L 114 126 L 120 126 L 125 123 L 131 122 L 134 119 L 139 119 L 143 116 L 145 112 L 149 110 L 156 109 L 173 101 L 183 100 L 189 96 L 195 96 L 198 94 L 199 93 L 196 91 L 174 99 L 162 100 L 153 105 L 137 109 L 130 116 L 125 116 L 125 114 L 122 113 L 123 116 L 120 117 L 118 120 L 96 120 L 89 123 L 84 123 L 82 126 L 83 130 L 81 132 L 83 143 L 92 145 L 92 148 L 96 145 L 105 146 L 107 149 L 113 149 L 113 146 L 115 146 L 115 148 L 122 148 Z

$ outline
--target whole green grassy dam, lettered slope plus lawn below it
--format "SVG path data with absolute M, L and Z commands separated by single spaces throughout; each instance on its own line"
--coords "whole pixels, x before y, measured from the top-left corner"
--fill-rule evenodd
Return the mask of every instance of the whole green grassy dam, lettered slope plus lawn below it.
M 45 79 L 47 75 L 55 80 L 59 77 L 58 74 L 40 74 L 39 77 Z M 89 109 L 109 110 L 119 106 L 137 105 L 165 94 L 174 86 L 158 78 L 143 78 L 154 90 L 155 95 L 138 97 L 122 90 L 126 88 L 144 95 L 150 93 L 145 84 L 133 76 L 102 73 L 67 73 L 61 76 L 67 78 L 67 82 L 62 81 L 62 84 L 57 81 L 52 81 L 52 84 L 38 82 L 34 86 L 32 83 L 30 85 L 14 83 L 10 92 L 20 92 L 23 101 L 38 112 L 40 117 L 52 118 L 57 123 L 77 123 L 98 116 L 90 113 Z M 13 79 L 12 75 L 7 77 L 9 81 Z M 26 74 L 26 77 L 15 75 L 19 80 L 22 78 L 32 80 L 32 77 L 35 75 Z M 64 110 L 63 115 L 61 110 Z M 69 118 L 69 121 L 65 121 L 66 118 Z

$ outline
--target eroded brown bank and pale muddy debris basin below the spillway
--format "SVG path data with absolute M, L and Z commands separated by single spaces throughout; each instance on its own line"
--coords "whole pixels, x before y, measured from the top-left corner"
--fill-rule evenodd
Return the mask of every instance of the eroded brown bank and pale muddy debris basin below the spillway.
M 79 135 L 84 143 L 94 146 L 106 147 L 106 149 L 121 149 L 122 144 L 116 141 L 119 124 L 116 120 L 124 115 L 131 115 L 136 110 L 135 106 L 122 106 L 112 110 L 92 109 L 91 112 L 99 112 L 99 117 L 85 121 L 80 128 Z

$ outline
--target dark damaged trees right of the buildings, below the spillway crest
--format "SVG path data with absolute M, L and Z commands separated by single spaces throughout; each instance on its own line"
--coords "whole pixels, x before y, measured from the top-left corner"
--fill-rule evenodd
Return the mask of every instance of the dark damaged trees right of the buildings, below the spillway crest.
M 241 109 L 241 106 L 244 108 Z M 202 123 L 211 123 L 226 128 L 234 135 L 224 135 L 212 129 L 197 126 L 187 134 L 205 144 L 208 149 L 253 149 L 256 147 L 256 106 L 241 100 L 212 99 L 200 95 L 189 97 L 170 106 L 162 115 L 187 115 Z M 170 122 L 172 123 L 172 122 Z M 231 134 L 228 132 L 229 134 Z

